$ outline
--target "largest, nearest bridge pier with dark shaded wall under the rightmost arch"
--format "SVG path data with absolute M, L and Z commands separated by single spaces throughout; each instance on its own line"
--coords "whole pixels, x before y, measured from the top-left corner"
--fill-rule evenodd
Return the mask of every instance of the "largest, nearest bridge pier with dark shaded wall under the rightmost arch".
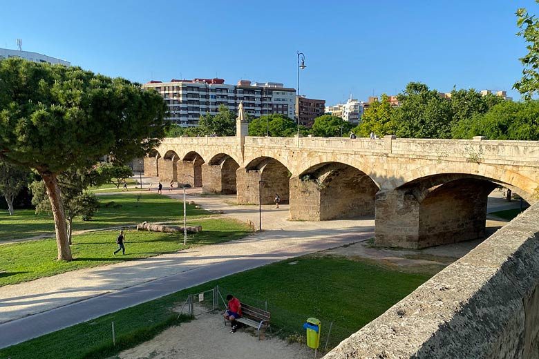
M 420 249 L 482 238 L 493 188 L 491 182 L 464 179 L 378 193 L 375 244 Z

